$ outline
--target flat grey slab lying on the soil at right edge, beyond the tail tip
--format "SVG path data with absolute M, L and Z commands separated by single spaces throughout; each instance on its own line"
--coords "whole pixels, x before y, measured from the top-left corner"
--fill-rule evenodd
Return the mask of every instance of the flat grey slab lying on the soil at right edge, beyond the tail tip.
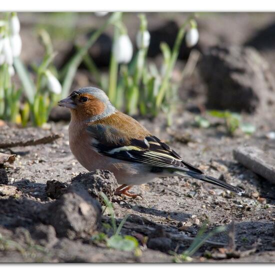
M 275 152 L 263 151 L 257 147 L 240 146 L 233 150 L 233 156 L 243 166 L 275 183 Z

